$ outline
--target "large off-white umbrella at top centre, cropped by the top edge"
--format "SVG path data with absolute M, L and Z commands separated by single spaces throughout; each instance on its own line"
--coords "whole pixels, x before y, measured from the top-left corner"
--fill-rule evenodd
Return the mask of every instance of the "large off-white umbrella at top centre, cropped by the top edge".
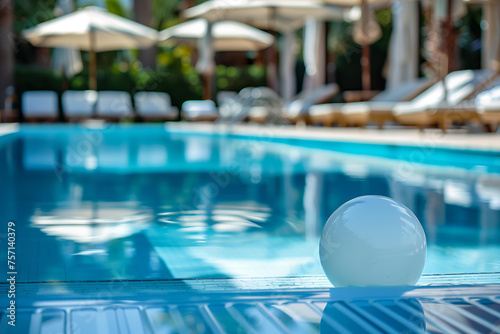
M 188 18 L 205 18 L 210 22 L 234 20 L 284 34 L 301 28 L 310 18 L 343 20 L 346 14 L 348 14 L 347 9 L 325 5 L 322 0 L 210 0 L 185 12 L 185 16 Z M 292 45 L 293 43 L 285 44 Z M 281 56 L 284 57 L 290 52 L 293 51 L 281 50 Z M 282 75 L 285 75 L 282 81 L 290 83 L 294 80 L 294 69 L 292 68 L 294 64 L 283 58 L 281 63 L 290 65 L 288 70 L 283 67 L 281 69 Z M 273 88 L 277 88 L 276 70 L 276 62 L 272 60 L 268 64 L 268 79 Z M 285 89 L 285 91 L 289 91 L 289 89 Z

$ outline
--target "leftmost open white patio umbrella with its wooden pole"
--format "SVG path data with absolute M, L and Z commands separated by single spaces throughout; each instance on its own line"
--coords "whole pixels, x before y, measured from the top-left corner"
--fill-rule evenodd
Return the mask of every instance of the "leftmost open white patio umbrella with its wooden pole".
M 31 44 L 70 47 L 90 52 L 90 89 L 97 89 L 95 53 L 147 48 L 158 41 L 158 32 L 98 7 L 86 7 L 41 23 L 23 32 Z

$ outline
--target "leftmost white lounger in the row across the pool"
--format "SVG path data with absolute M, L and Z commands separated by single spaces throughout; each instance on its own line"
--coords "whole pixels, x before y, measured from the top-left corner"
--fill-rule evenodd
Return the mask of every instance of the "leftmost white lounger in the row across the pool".
M 55 122 L 59 117 L 59 98 L 54 91 L 27 91 L 21 97 L 23 117 L 28 122 Z

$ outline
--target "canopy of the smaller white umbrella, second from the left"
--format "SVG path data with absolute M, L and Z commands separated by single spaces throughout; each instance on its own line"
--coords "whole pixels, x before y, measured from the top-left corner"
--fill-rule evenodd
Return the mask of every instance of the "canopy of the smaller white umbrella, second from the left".
M 197 47 L 207 32 L 208 22 L 196 19 L 177 24 L 160 32 L 161 44 L 185 44 Z M 220 21 L 212 26 L 214 51 L 257 51 L 274 43 L 274 37 L 249 25 Z

